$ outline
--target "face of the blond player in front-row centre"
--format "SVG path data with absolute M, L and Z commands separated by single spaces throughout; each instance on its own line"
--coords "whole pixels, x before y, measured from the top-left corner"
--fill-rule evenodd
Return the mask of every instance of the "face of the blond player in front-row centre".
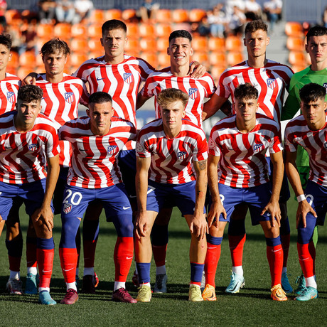
M 164 128 L 166 130 L 180 129 L 182 124 L 182 118 L 185 117 L 185 107 L 183 102 L 176 101 L 166 104 L 165 107 L 161 107 L 161 118 Z

